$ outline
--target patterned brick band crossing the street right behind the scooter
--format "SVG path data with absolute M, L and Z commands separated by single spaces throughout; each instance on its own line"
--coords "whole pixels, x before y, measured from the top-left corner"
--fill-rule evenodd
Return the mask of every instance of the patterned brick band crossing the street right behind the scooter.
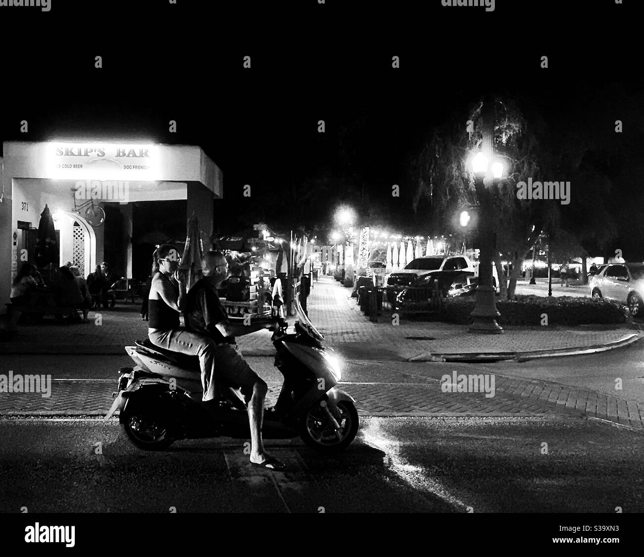
M 269 382 L 267 405 L 276 401 L 280 384 Z M 52 395 L 3 393 L 4 416 L 104 416 L 113 399 L 116 380 L 54 380 Z M 644 431 L 644 405 L 603 393 L 551 381 L 495 375 L 495 396 L 484 393 L 444 393 L 440 382 L 343 383 L 365 416 L 511 416 L 595 417 Z

